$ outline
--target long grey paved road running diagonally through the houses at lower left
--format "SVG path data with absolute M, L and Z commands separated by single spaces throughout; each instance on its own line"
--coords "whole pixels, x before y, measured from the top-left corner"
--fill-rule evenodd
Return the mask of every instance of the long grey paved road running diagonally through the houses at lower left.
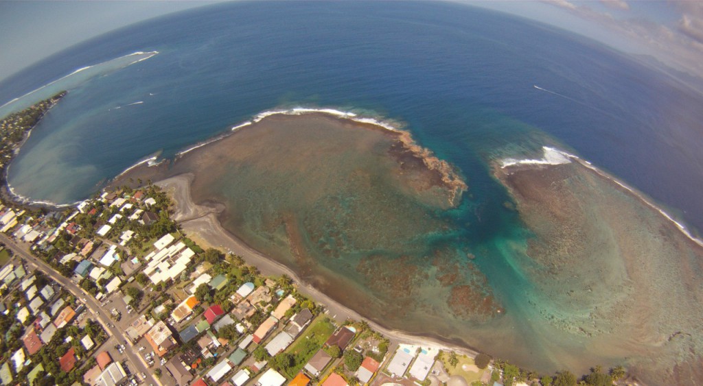
M 120 329 L 117 327 L 112 327 L 113 325 L 110 324 L 110 319 L 108 317 L 110 312 L 108 310 L 103 309 L 103 307 L 101 307 L 101 305 L 95 300 L 95 298 L 93 298 L 92 295 L 86 293 L 83 288 L 77 286 L 77 284 L 75 284 L 67 277 L 64 277 L 63 275 L 56 272 L 51 267 L 51 265 L 46 264 L 46 262 L 42 261 L 39 258 L 35 258 L 32 254 L 29 253 L 29 250 L 27 249 L 27 244 L 15 242 L 13 239 L 7 237 L 6 234 L 0 234 L 0 241 L 4 242 L 7 248 L 10 248 L 13 252 L 15 252 L 15 255 L 18 255 L 20 256 L 20 258 L 25 259 L 25 261 L 27 261 L 29 265 L 31 265 L 35 269 L 39 269 L 39 271 L 41 272 L 44 272 L 46 276 L 51 277 L 53 281 L 56 281 L 56 283 L 63 286 L 63 288 L 67 289 L 74 296 L 79 299 L 82 299 L 86 307 L 91 312 L 93 312 L 94 315 L 96 315 L 96 317 L 98 318 L 98 322 L 100 322 L 103 328 L 105 328 L 105 331 L 108 332 L 108 335 L 117 338 L 118 342 L 127 341 L 127 344 L 130 347 L 128 347 L 127 350 L 124 350 L 124 354 L 127 355 L 127 358 L 133 366 L 132 368 L 136 368 L 136 371 L 138 373 L 145 373 L 147 376 L 146 382 L 162 385 L 162 383 L 149 371 L 148 366 L 146 366 L 146 362 L 143 361 L 139 354 L 134 352 L 134 350 L 131 350 L 131 346 L 133 346 L 133 344 L 131 340 L 127 339 L 127 335 L 124 333 L 124 331 L 120 331 Z

